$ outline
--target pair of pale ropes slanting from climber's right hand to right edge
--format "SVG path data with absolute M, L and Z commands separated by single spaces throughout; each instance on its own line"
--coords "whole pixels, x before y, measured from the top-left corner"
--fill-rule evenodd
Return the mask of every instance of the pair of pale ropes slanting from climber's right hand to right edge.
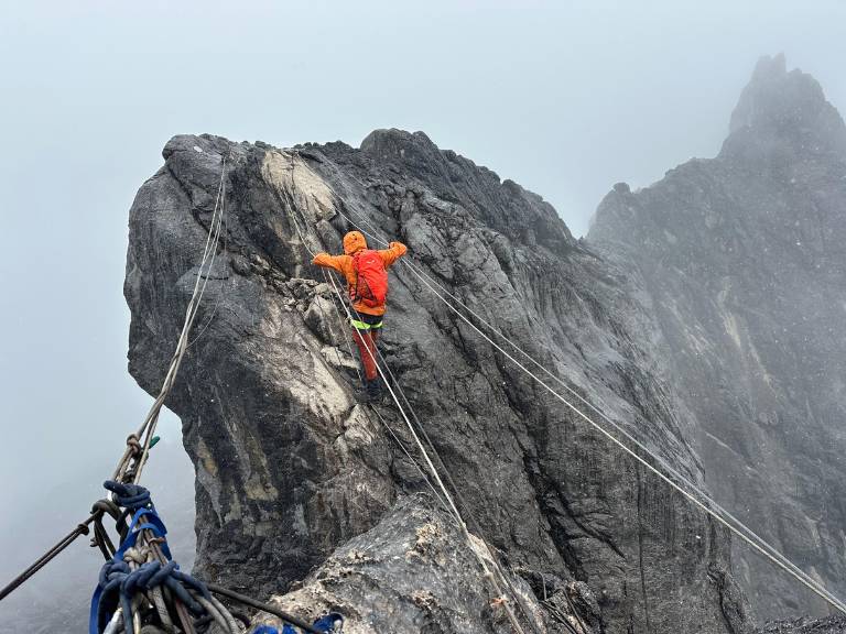
M 364 230 L 358 223 L 356 223 L 354 220 L 351 220 L 348 216 L 346 216 L 344 212 L 336 209 L 338 215 L 340 215 L 344 219 L 347 220 L 350 225 L 362 231 L 364 233 L 368 234 L 369 237 L 377 240 L 377 242 L 386 243 L 384 240 L 380 239 L 378 236 L 370 233 L 366 230 Z M 360 214 L 356 214 L 357 216 L 361 217 Z M 365 219 L 365 222 L 372 229 L 372 225 L 368 222 Z M 479 315 L 477 315 L 473 309 L 470 309 L 468 306 L 466 306 L 460 299 L 455 297 L 452 293 L 443 288 L 441 284 L 438 284 L 435 280 L 432 280 L 430 275 L 427 275 L 425 272 L 419 272 L 416 266 L 412 265 L 410 262 L 404 262 L 404 264 L 408 266 L 408 269 L 438 298 L 441 299 L 446 306 L 453 310 L 458 317 L 460 317 L 464 321 L 466 321 L 479 336 L 481 336 L 484 339 L 486 339 L 491 346 L 494 346 L 497 350 L 499 350 L 502 354 L 505 354 L 512 363 L 514 363 L 520 370 L 522 370 L 524 373 L 527 373 L 529 376 L 531 376 L 534 381 L 536 381 L 540 385 L 542 385 L 546 391 L 549 391 L 553 396 L 555 396 L 557 400 L 560 400 L 562 403 L 567 405 L 571 409 L 573 409 L 579 417 L 585 419 L 587 423 L 589 423 L 594 428 L 599 430 L 604 436 L 606 436 L 608 439 L 610 439 L 612 442 L 618 445 L 623 451 L 632 456 L 638 462 L 642 463 L 647 469 L 652 471 L 654 474 L 659 476 L 661 480 L 666 482 L 670 487 L 672 487 L 677 492 L 682 493 L 684 498 L 686 498 L 688 501 L 694 503 L 696 506 L 705 511 L 708 515 L 717 520 L 722 525 L 724 525 L 726 528 L 728 528 L 730 532 L 735 533 L 738 537 L 740 537 L 741 540 L 744 540 L 746 544 L 751 546 L 756 551 L 758 551 L 761 556 L 763 556 L 766 559 L 770 560 L 772 564 L 788 572 L 790 576 L 795 578 L 800 583 L 805 586 L 809 590 L 821 597 L 824 601 L 826 601 L 832 606 L 836 608 L 844 614 L 846 614 L 846 603 L 844 603 L 839 598 L 834 595 L 832 592 L 829 592 L 827 589 L 825 589 L 821 583 L 818 583 L 816 580 L 811 578 L 806 572 L 804 572 L 801 568 L 799 568 L 795 564 L 793 564 L 787 556 L 784 556 L 782 553 L 780 553 L 774 546 L 770 545 L 768 542 L 766 542 L 762 537 L 757 535 L 751 528 L 746 526 L 742 522 L 737 520 L 734 515 L 725 511 L 719 504 L 717 504 L 715 501 L 713 501 L 707 494 L 702 492 L 698 487 L 691 483 L 686 478 L 684 478 L 682 474 L 677 473 L 674 469 L 670 468 L 664 460 L 662 460 L 660 457 L 655 456 L 649 448 L 647 448 L 642 442 L 633 438 L 628 431 L 619 427 L 616 423 L 614 423 L 608 416 L 606 416 L 604 413 L 601 413 L 599 409 L 597 409 L 594 405 L 592 405 L 588 401 L 586 401 L 584 397 L 582 397 L 577 392 L 575 392 L 572 387 L 566 385 L 561 379 L 555 376 L 552 372 L 546 370 L 541 363 L 539 363 L 534 358 L 532 358 L 528 352 L 523 351 L 517 343 L 511 341 L 511 339 L 497 330 L 494 326 L 491 326 L 487 320 L 481 318 Z M 532 373 L 525 365 L 520 363 L 517 359 L 514 359 L 511 354 L 509 354 L 506 350 L 502 349 L 498 343 L 496 343 L 490 337 L 488 337 L 485 332 L 482 332 L 475 324 L 473 324 L 464 314 L 462 314 L 455 306 L 453 306 L 441 293 L 438 293 L 432 283 L 430 283 L 426 278 L 431 280 L 432 283 L 440 286 L 446 294 L 448 294 L 451 297 L 453 297 L 458 304 L 460 304 L 468 313 L 474 315 L 477 319 L 479 319 L 481 323 L 484 323 L 488 328 L 497 334 L 499 337 L 505 339 L 509 342 L 509 345 L 517 351 L 519 351 L 524 358 L 531 360 L 533 364 L 535 364 L 538 368 L 542 369 L 547 375 L 552 376 L 556 382 L 561 383 L 566 390 L 575 394 L 582 402 L 584 402 L 586 405 L 588 405 L 592 409 L 597 412 L 604 419 L 609 422 L 618 431 L 620 431 L 623 436 L 626 436 L 627 439 L 632 441 L 639 449 L 644 451 L 648 456 L 650 456 L 653 460 L 655 460 L 659 464 L 661 464 L 663 468 L 665 468 L 668 471 L 670 471 L 674 477 L 679 478 L 682 482 L 684 482 L 686 485 L 691 487 L 693 490 L 695 490 L 704 500 L 706 500 L 709 504 L 714 506 L 714 509 L 718 509 L 722 513 L 725 513 L 726 516 L 730 517 L 733 522 L 737 524 L 737 526 L 733 525 L 728 520 L 726 520 L 723 515 L 717 513 L 714 509 L 708 507 L 705 503 L 697 500 L 695 496 L 693 496 L 691 493 L 685 491 L 681 485 L 673 482 L 670 478 L 668 478 L 664 473 L 659 471 L 655 467 L 650 464 L 648 461 L 646 461 L 643 458 L 638 456 L 634 451 L 632 451 L 629 447 L 627 447 L 623 442 L 621 442 L 619 439 L 614 437 L 610 433 L 608 433 L 605 428 L 603 428 L 600 425 L 598 425 L 596 422 L 594 422 L 592 418 L 589 418 L 587 415 L 585 415 L 581 409 L 575 407 L 572 403 L 570 403 L 566 398 L 564 398 L 561 394 L 555 392 L 551 386 L 549 386 L 544 381 L 542 381 L 539 376 L 536 376 L 534 373 Z

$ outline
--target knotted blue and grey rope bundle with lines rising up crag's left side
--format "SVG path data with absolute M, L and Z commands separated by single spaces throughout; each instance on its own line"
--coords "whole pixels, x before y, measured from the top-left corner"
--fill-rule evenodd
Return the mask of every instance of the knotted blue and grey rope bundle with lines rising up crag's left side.
M 308 634 L 340 632 L 344 621 L 340 614 L 323 616 L 310 625 L 273 605 L 213 583 L 203 583 L 182 572 L 172 558 L 166 539 L 167 529 L 152 503 L 150 492 L 138 483 L 150 457 L 150 450 L 159 441 L 155 436 L 159 415 L 191 345 L 188 335 L 217 256 L 225 215 L 226 166 L 227 157 L 224 156 L 215 207 L 209 219 L 196 281 L 162 389 L 141 427 L 127 438 L 127 448 L 115 473 L 111 480 L 105 483 L 112 499 L 97 502 L 86 521 L 0 590 L 0 600 L 41 570 L 79 535 L 89 534 L 89 526 L 94 525 L 91 545 L 100 548 L 107 561 L 100 570 L 91 598 L 90 634 L 117 634 L 120 631 L 141 634 L 142 628 L 144 633 L 154 631 L 204 634 L 212 623 L 216 623 L 223 634 L 241 634 L 242 627 L 238 621 L 248 626 L 249 620 L 246 616 L 236 619 L 216 594 L 278 616 L 284 623 L 283 634 L 295 634 L 294 627 Z M 207 326 L 208 323 L 197 338 Z M 115 521 L 120 537 L 117 548 L 102 525 L 106 515 Z

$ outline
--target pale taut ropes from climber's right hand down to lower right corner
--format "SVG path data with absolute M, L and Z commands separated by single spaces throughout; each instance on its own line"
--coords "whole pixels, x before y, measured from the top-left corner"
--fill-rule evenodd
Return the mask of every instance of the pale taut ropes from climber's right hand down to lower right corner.
M 361 218 L 362 223 L 367 225 L 373 233 L 366 231 L 362 229 L 356 221 L 354 221 L 351 218 L 349 218 L 346 214 L 340 211 L 339 209 L 336 209 L 336 212 L 344 218 L 350 226 L 355 227 L 359 231 L 361 231 L 364 234 L 368 236 L 372 240 L 375 240 L 377 243 L 380 244 L 388 244 L 389 242 L 387 240 L 380 239 L 378 236 L 376 236 L 375 232 L 379 231 L 377 228 L 375 228 L 367 218 L 364 217 L 360 212 L 357 212 L 352 210 L 352 212 L 356 214 L 359 218 Z M 810 577 L 806 572 L 804 572 L 801 568 L 799 568 L 795 564 L 793 564 L 785 555 L 783 555 L 780 550 L 778 550 L 774 546 L 769 544 L 766 539 L 760 537 L 758 534 L 756 534 L 751 528 L 749 528 L 745 523 L 739 521 L 737 517 L 735 517 L 733 514 L 730 514 L 728 511 L 723 509 L 719 504 L 717 504 L 707 493 L 702 491 L 697 485 L 695 485 L 693 482 L 690 481 L 690 479 L 685 478 L 683 474 L 679 473 L 677 470 L 673 469 L 670 464 L 666 463 L 665 460 L 663 460 L 660 456 L 657 456 L 653 451 L 651 451 L 646 445 L 643 445 L 641 441 L 639 441 L 637 438 L 631 436 L 627 430 L 625 430 L 621 426 L 619 426 L 617 423 L 615 423 L 609 416 L 607 416 L 605 413 L 603 413 L 599 408 L 597 408 L 595 405 L 589 403 L 586 398 L 584 398 L 582 395 L 579 395 L 574 389 L 572 389 L 570 385 L 567 385 L 563 380 L 561 380 L 557 375 L 552 373 L 550 370 L 547 370 L 542 363 L 536 361 L 532 356 L 530 356 L 528 352 L 522 350 L 517 343 L 514 343 L 508 336 L 503 335 L 501 331 L 499 331 L 495 326 L 492 326 L 489 321 L 484 319 L 481 316 L 479 316 L 476 311 L 474 311 L 471 308 L 469 308 L 464 302 L 462 302 L 458 297 L 456 297 L 453 293 L 451 293 L 448 289 L 446 289 L 442 284 L 440 284 L 434 277 L 429 275 L 425 271 L 422 270 L 422 267 L 417 267 L 408 260 L 404 260 L 403 263 L 405 264 L 406 269 L 417 278 L 420 282 L 429 288 L 429 291 L 434 294 L 441 302 L 443 302 L 453 313 L 455 313 L 463 321 L 465 321 L 473 330 L 479 335 L 482 339 L 485 339 L 488 343 L 490 343 L 494 348 L 496 348 L 500 353 L 502 353 L 509 361 L 511 361 L 514 365 L 517 365 L 522 372 L 524 372 L 528 376 L 530 376 L 533 381 L 535 381 L 538 384 L 540 384 L 544 390 L 550 392 L 555 398 L 561 401 L 564 405 L 570 407 L 578 417 L 584 419 L 586 423 L 588 423 L 592 427 L 594 427 L 597 431 L 599 431 L 603 436 L 611 440 L 615 445 L 617 445 L 620 449 L 622 449 L 626 453 L 631 456 L 634 460 L 637 460 L 639 463 L 641 463 L 643 467 L 646 467 L 649 471 L 658 476 L 662 481 L 664 481 L 666 484 L 669 484 L 672 489 L 681 493 L 686 500 L 688 500 L 691 503 L 699 507 L 702 511 L 704 511 L 706 514 L 712 516 L 714 520 L 716 520 L 719 524 L 728 528 L 731 533 L 737 535 L 744 543 L 749 545 L 755 551 L 757 551 L 759 555 L 768 559 L 770 562 L 776 565 L 781 570 L 788 572 L 790 576 L 792 576 L 794 579 L 796 579 L 800 583 L 805 586 L 809 590 L 821 597 L 824 601 L 826 601 L 829 605 L 837 609 L 838 611 L 846 614 L 846 603 L 844 603 L 843 600 L 834 595 L 832 592 L 829 592 L 827 589 L 825 589 L 822 583 L 817 582 L 815 579 Z M 443 292 L 443 294 L 441 292 Z M 486 326 L 494 335 L 505 340 L 516 352 L 520 353 L 522 358 L 524 358 L 528 362 L 532 363 L 534 367 L 539 368 L 544 374 L 550 376 L 552 380 L 554 380 L 556 383 L 558 383 L 562 387 L 564 387 L 568 393 L 574 395 L 577 400 L 579 400 L 583 404 L 585 404 L 587 407 L 589 407 L 592 411 L 594 411 L 596 414 L 598 414 L 606 423 L 608 423 L 611 427 L 614 427 L 615 430 L 617 430 L 623 438 L 626 438 L 628 441 L 634 445 L 638 449 L 640 449 L 646 456 L 649 456 L 658 466 L 661 467 L 664 471 L 661 471 L 658 467 L 647 461 L 644 458 L 639 456 L 631 447 L 627 446 L 622 440 L 614 436 L 608 429 L 606 429 L 603 425 L 599 425 L 596 420 L 590 418 L 588 415 L 586 415 L 582 409 L 576 407 L 573 403 L 571 403 L 568 400 L 566 400 L 564 396 L 562 396 L 558 392 L 556 392 L 553 387 L 551 387 L 547 383 L 545 383 L 541 378 L 539 378 L 536 374 L 534 374 L 531 370 L 529 370 L 523 363 L 518 361 L 512 354 L 510 354 L 507 350 L 505 350 L 501 346 L 499 346 L 496 341 L 494 341 L 488 335 L 486 335 L 479 327 L 477 327 L 464 313 L 458 310 L 444 295 L 451 297 L 456 304 L 462 306 L 468 314 L 473 315 L 480 324 Z M 669 476 L 668 476 L 669 473 Z M 673 480 L 673 478 L 676 481 Z M 679 483 L 681 482 L 681 484 Z M 686 489 L 685 489 L 686 488 Z M 691 493 L 691 490 L 695 493 Z M 698 498 L 697 498 L 698 496 Z

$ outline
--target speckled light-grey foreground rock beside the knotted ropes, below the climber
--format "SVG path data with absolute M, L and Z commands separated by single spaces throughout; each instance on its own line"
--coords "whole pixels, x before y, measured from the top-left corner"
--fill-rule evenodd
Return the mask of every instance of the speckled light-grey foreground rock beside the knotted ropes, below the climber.
M 512 581 L 539 627 L 564 632 L 551 617 L 544 623 L 544 612 L 525 581 Z M 502 608 L 488 604 L 481 568 L 457 525 L 422 495 L 399 501 L 376 527 L 338 548 L 302 588 L 275 603 L 308 617 L 340 611 L 347 634 L 511 632 Z M 270 616 L 258 621 L 281 625 Z

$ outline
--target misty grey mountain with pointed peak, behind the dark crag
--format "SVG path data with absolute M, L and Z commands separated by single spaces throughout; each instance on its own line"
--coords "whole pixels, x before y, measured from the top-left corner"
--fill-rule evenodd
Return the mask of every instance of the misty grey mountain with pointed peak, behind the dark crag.
M 846 591 L 846 127 L 817 83 L 761 59 L 719 155 L 616 187 L 589 244 L 649 297 L 716 499 Z M 762 617 L 825 613 L 736 562 Z

